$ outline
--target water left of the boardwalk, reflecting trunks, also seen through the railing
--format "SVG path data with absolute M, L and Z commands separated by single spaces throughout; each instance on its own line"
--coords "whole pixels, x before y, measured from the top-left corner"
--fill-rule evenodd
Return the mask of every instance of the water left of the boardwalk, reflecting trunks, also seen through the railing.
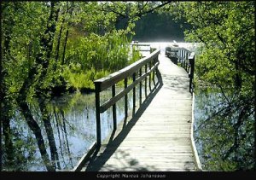
M 116 93 L 120 90 L 120 88 L 117 88 Z M 138 92 L 137 85 L 137 98 Z M 111 90 L 104 90 L 101 93 L 101 104 L 110 97 Z M 124 104 L 124 98 L 120 99 L 116 104 L 118 124 L 125 118 Z M 96 142 L 95 94 L 81 94 L 78 92 L 72 95 L 56 97 L 48 102 L 47 107 L 50 112 L 50 122 L 57 148 L 56 170 L 72 170 L 81 157 L 88 152 L 93 142 Z M 48 138 L 44 123 L 41 120 L 37 101 L 31 104 L 30 108 L 34 119 L 37 120 L 41 128 L 47 152 L 50 156 Z M 128 93 L 128 113 L 131 113 L 131 111 L 132 90 Z M 101 113 L 101 126 L 103 141 L 113 130 L 112 107 Z M 6 165 L 6 157 L 3 155 L 3 171 L 47 171 L 38 150 L 36 138 L 18 110 L 14 118 L 11 119 L 11 129 L 15 145 L 15 166 Z

